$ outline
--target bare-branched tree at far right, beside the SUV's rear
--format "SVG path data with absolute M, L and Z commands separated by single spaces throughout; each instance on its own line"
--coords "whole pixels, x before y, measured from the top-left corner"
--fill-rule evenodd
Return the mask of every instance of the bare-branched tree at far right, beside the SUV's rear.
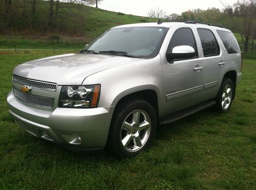
M 224 5 L 224 7 L 230 21 L 240 33 L 244 52 L 247 53 L 249 40 L 254 36 L 256 29 L 256 6 L 252 0 L 238 0 L 233 6 Z

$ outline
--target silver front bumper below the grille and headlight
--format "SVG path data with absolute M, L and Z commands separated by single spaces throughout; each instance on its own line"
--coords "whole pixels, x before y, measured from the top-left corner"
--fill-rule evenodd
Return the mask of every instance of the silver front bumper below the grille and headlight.
M 67 147 L 100 149 L 106 144 L 114 106 L 41 110 L 7 97 L 10 114 L 31 134 Z

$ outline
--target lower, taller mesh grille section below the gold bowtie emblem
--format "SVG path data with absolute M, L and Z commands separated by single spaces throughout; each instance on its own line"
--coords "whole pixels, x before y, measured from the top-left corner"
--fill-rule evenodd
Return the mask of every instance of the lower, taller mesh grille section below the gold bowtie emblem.
M 44 107 L 44 108 L 53 107 L 54 98 L 51 98 L 51 97 L 24 93 L 16 88 L 13 88 L 13 94 L 16 98 L 18 98 L 19 100 L 29 105 Z

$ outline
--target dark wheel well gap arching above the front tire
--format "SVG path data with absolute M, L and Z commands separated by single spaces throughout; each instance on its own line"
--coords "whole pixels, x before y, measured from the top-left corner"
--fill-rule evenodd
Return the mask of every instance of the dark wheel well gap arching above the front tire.
M 143 99 L 145 101 L 147 101 L 148 103 L 150 103 L 154 110 L 156 111 L 156 115 L 157 115 L 157 119 L 159 121 L 159 112 L 158 112 L 158 97 L 157 97 L 157 93 L 154 90 L 142 90 L 142 91 L 138 91 L 138 92 L 134 92 L 132 94 L 126 95 L 124 97 L 122 97 L 116 104 L 116 107 L 122 103 L 123 101 L 129 101 L 132 98 L 139 98 L 139 99 Z

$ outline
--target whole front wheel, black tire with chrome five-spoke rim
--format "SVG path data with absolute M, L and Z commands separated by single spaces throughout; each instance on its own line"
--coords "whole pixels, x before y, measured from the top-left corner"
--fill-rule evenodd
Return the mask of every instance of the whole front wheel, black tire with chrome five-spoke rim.
M 150 103 L 126 100 L 116 107 L 106 150 L 120 158 L 134 157 L 151 144 L 156 128 L 156 112 Z

